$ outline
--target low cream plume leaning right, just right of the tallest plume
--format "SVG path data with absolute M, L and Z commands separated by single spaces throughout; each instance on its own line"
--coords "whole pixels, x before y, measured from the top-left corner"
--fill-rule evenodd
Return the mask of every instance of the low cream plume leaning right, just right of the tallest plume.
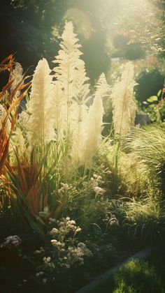
M 106 82 L 106 76 L 101 74 L 96 84 L 96 93 L 93 104 L 82 108 L 82 112 L 76 109 L 78 120 L 73 130 L 72 159 L 77 160 L 78 165 L 90 165 L 92 157 L 101 142 L 101 130 L 103 126 L 103 98 L 110 93 L 110 86 Z M 81 118 L 80 118 L 81 117 Z

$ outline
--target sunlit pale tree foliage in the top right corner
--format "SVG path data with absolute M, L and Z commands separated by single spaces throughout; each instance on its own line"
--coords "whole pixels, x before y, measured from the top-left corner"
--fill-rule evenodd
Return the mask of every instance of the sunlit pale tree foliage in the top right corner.
M 124 3 L 118 20 L 121 35 L 127 43 L 141 44 L 148 54 L 164 54 L 164 10 L 152 1 L 130 1 Z

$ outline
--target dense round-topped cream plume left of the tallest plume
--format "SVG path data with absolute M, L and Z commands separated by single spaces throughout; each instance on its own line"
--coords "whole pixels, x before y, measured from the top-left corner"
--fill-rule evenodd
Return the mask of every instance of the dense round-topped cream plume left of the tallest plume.
M 46 59 L 41 59 L 36 66 L 31 84 L 30 101 L 27 112 L 30 113 L 28 130 L 33 140 L 49 142 L 55 139 L 52 109 L 52 76 Z M 26 115 L 25 115 L 26 116 Z

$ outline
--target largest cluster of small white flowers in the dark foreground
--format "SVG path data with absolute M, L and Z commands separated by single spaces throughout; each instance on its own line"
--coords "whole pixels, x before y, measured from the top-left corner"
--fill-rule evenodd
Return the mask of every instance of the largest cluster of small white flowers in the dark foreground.
M 89 257 L 92 253 L 85 243 L 78 242 L 76 235 L 81 228 L 69 217 L 57 220 L 55 224 L 56 227 L 50 231 L 50 235 L 53 236 L 51 240 L 54 248 L 53 255 L 43 257 L 46 268 L 54 269 L 57 266 L 63 266 L 69 269 L 74 264 L 83 264 L 84 257 Z

